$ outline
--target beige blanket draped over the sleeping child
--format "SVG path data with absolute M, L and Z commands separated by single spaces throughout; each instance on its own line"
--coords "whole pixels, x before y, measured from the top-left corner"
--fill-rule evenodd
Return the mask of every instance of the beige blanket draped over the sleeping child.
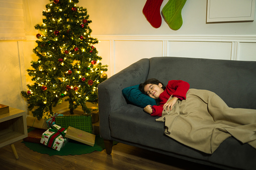
M 208 90 L 189 89 L 186 96 L 156 119 L 165 122 L 166 135 L 206 153 L 229 136 L 256 148 L 256 110 L 230 108 Z

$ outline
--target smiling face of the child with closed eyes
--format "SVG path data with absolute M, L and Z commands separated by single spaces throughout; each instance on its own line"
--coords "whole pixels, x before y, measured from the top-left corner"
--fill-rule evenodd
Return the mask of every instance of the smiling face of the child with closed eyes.
M 153 99 L 158 99 L 159 95 L 163 92 L 162 84 L 147 84 L 144 87 L 144 91 L 149 97 Z

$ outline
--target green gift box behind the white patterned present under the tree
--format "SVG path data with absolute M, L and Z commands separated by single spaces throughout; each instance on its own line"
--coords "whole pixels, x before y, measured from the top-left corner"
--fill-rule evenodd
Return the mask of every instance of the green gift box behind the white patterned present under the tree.
M 66 115 L 55 117 L 55 123 L 63 128 L 72 126 L 74 128 L 92 133 L 92 116 L 91 115 Z

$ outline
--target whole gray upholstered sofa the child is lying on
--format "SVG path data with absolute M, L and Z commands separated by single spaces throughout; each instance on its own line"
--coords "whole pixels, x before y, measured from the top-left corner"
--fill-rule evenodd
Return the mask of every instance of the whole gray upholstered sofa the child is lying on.
M 256 169 L 256 149 L 233 137 L 207 154 L 164 135 L 164 122 L 130 104 L 122 89 L 156 78 L 184 80 L 219 95 L 229 107 L 256 109 L 256 62 L 180 57 L 141 59 L 98 86 L 100 134 L 111 154 L 113 140 L 223 169 Z

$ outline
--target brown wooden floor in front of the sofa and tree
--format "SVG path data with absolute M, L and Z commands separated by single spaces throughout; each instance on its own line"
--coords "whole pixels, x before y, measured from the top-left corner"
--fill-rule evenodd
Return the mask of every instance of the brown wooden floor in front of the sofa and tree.
M 49 156 L 30 150 L 22 143 L 15 142 L 19 159 L 15 159 L 10 145 L 0 148 L 0 169 L 197 169 L 217 168 L 192 163 L 171 156 L 118 143 L 112 154 L 106 150 L 83 155 Z

